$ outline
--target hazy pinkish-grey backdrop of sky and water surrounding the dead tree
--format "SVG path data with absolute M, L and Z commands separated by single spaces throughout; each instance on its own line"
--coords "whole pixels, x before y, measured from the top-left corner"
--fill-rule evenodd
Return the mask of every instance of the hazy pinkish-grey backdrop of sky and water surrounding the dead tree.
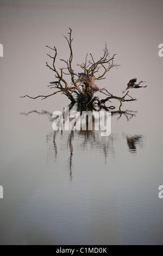
M 158 56 L 158 46 L 163 43 L 162 13 L 161 0 L 0 0 L 0 43 L 4 48 L 0 57 L 2 244 L 162 243 L 163 201 L 158 199 L 158 187 L 163 184 L 163 57 Z M 52 92 L 47 85 L 54 80 L 54 74 L 45 63 L 51 64 L 46 53 L 53 52 L 46 45 L 57 47 L 59 68 L 59 59 L 69 57 L 63 36 L 69 27 L 74 38 L 75 72 L 81 71 L 76 64 L 84 61 L 87 52 L 95 59 L 101 57 L 106 42 L 121 66 L 110 70 L 106 80 L 98 82 L 99 87 L 121 96 L 131 78 L 147 81 L 147 88 L 130 92 L 139 100 L 124 102 L 122 107 L 137 111 L 134 121 L 112 119 L 116 149 L 108 162 L 96 147 L 95 155 L 92 149 L 83 151 L 77 147 L 83 137 L 76 137 L 74 144 L 79 151 L 73 156 L 73 181 L 66 166 L 68 153 L 61 150 L 57 163 L 49 157 L 51 143 L 46 136 L 53 130 L 47 116 L 20 115 L 34 109 L 62 111 L 69 103 L 59 95 L 46 100 L 20 98 Z M 143 147 L 134 156 L 129 154 L 123 138 L 137 134 L 143 136 Z M 64 138 L 66 148 L 66 135 Z M 129 209 L 131 202 L 136 206 Z M 54 212 L 58 216 L 56 223 Z M 42 233 L 47 240 L 41 237 Z

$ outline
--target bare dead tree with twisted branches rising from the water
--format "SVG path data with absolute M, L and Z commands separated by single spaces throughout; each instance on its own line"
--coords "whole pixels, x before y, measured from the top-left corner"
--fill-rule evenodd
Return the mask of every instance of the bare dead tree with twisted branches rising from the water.
M 136 99 L 133 99 L 128 92 L 122 96 L 114 96 L 111 93 L 108 92 L 105 88 L 99 89 L 96 85 L 96 81 L 105 79 L 105 75 L 107 72 L 110 71 L 110 69 L 117 67 L 119 65 L 114 64 L 115 55 L 110 57 L 110 53 L 108 52 L 108 49 L 105 44 L 105 48 L 103 50 L 103 56 L 100 57 L 97 61 L 93 58 L 92 54 L 90 53 L 90 59 L 88 59 L 88 54 L 86 54 L 85 62 L 82 64 L 77 64 L 77 66 L 80 66 L 80 68 L 83 70 L 82 73 L 74 73 L 74 70 L 72 68 L 72 59 L 73 59 L 73 51 L 72 51 L 72 29 L 70 28 L 70 32 L 68 33 L 69 37 L 66 38 L 68 46 L 70 48 L 70 58 L 60 59 L 61 62 L 66 64 L 65 68 L 60 68 L 59 70 L 55 67 L 55 62 L 57 59 L 57 48 L 54 46 L 54 48 L 47 46 L 52 51 L 54 51 L 54 55 L 47 54 L 49 58 L 52 59 L 53 65 L 50 66 L 46 62 L 46 66 L 51 69 L 54 72 L 56 80 L 54 82 L 50 82 L 49 88 L 55 89 L 55 92 L 49 94 L 49 95 L 39 95 L 36 97 L 31 97 L 28 95 L 21 96 L 21 97 L 29 97 L 30 99 L 37 99 L 38 97 L 42 97 L 42 100 L 47 99 L 47 97 L 55 95 L 57 93 L 64 94 L 70 99 L 72 103 L 77 102 L 79 105 L 85 105 L 86 107 L 95 107 L 98 108 L 108 108 L 108 109 L 114 109 L 114 106 L 106 107 L 106 102 L 110 101 L 111 99 L 116 99 L 120 101 L 120 111 L 122 102 L 124 101 L 134 101 Z M 65 77 L 69 75 L 71 77 L 71 83 L 68 84 Z M 78 77 L 76 79 L 76 76 Z M 56 90 L 57 89 L 57 90 Z M 96 93 L 102 93 L 106 95 L 104 99 L 99 99 L 98 96 L 96 96 Z M 128 97 L 127 97 L 128 96 Z

